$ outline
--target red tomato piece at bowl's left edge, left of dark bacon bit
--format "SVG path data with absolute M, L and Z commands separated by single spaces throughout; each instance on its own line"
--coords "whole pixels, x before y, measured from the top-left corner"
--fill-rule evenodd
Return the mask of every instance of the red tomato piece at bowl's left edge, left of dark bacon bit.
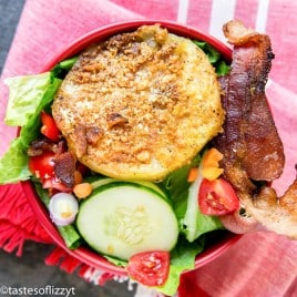
M 54 153 L 50 151 L 43 152 L 41 155 L 31 156 L 29 158 L 29 170 L 40 178 L 54 176 L 53 161 Z

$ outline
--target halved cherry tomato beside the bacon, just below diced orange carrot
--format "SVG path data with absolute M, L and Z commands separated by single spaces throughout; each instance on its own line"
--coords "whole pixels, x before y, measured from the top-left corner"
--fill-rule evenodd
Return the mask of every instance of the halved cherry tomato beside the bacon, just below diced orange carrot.
M 239 208 L 238 197 L 232 185 L 217 178 L 204 178 L 198 191 L 199 209 L 205 215 L 225 215 Z

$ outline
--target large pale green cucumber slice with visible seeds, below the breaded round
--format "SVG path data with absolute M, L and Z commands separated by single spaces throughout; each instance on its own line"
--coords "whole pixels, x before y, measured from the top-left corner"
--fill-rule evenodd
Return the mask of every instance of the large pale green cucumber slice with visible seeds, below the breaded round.
M 93 249 L 121 259 L 146 250 L 171 250 L 178 223 L 163 195 L 137 183 L 101 185 L 81 204 L 78 229 Z

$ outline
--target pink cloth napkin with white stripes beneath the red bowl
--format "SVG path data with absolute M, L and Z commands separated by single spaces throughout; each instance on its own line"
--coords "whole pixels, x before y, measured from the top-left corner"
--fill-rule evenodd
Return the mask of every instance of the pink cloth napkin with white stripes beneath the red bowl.
M 295 177 L 297 162 L 296 13 L 297 2 L 290 0 L 27 0 L 0 81 L 0 154 L 16 135 L 14 129 L 3 124 L 4 78 L 38 73 L 76 38 L 113 22 L 177 20 L 222 39 L 222 24 L 242 19 L 266 31 L 276 53 L 267 95 L 287 155 L 284 175 L 275 183 L 281 193 Z M 297 242 L 258 232 L 244 236 L 209 265 L 186 274 L 180 296 L 297 296 L 296 276 Z

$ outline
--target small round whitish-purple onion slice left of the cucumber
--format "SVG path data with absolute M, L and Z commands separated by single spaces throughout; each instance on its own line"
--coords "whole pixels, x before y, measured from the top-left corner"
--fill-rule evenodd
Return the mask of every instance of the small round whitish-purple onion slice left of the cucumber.
M 73 223 L 79 212 L 78 199 L 68 193 L 58 193 L 50 199 L 49 211 L 52 222 L 58 226 Z

